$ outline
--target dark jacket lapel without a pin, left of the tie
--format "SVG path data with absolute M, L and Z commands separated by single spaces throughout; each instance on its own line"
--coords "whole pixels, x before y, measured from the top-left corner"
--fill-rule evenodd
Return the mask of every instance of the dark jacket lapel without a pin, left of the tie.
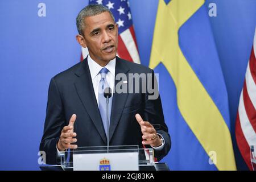
M 84 105 L 102 140 L 106 143 L 106 134 L 102 124 L 100 111 L 98 110 L 87 58 L 82 61 L 81 67 L 77 70 L 75 75 L 78 76 L 77 81 L 75 82 L 75 87 L 77 94 L 82 101 L 82 105 Z

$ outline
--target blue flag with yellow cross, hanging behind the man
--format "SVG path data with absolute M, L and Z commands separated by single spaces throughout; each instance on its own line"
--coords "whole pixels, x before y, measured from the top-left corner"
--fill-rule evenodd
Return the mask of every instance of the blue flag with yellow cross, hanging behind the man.
M 171 169 L 236 170 L 228 95 L 203 0 L 160 0 L 150 68 L 172 138 Z

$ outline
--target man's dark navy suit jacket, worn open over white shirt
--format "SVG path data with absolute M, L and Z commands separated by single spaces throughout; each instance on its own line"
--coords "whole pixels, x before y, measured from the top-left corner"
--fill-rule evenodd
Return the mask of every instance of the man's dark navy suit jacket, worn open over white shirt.
M 154 74 L 150 68 L 117 57 L 115 75 L 118 73 Z M 129 85 L 129 80 L 127 81 Z M 115 84 L 117 82 L 115 81 Z M 160 160 L 170 151 L 171 139 L 164 123 L 160 97 L 157 100 L 148 100 L 147 97 L 148 93 L 113 94 L 109 143 L 112 146 L 139 145 L 143 148 L 141 127 L 135 119 L 135 114 L 139 113 L 143 120 L 149 121 L 165 140 L 163 150 L 155 151 L 155 157 Z M 106 134 L 87 59 L 59 73 L 49 84 L 46 121 L 40 143 L 40 151 L 46 152 L 47 164 L 57 163 L 56 144 L 61 130 L 68 125 L 72 114 L 77 115 L 74 132 L 77 133 L 79 147 L 106 146 Z

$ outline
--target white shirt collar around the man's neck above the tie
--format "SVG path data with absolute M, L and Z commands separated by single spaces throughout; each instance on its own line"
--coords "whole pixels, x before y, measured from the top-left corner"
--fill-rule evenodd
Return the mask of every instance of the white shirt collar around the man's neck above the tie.
M 99 65 L 98 63 L 96 63 L 88 54 L 88 65 L 89 65 L 89 69 L 90 69 L 90 76 L 92 77 L 92 80 L 98 75 L 98 73 L 101 71 L 102 68 L 101 65 Z M 115 58 L 111 61 L 109 61 L 109 63 L 105 66 L 106 69 L 109 70 L 109 72 L 115 76 Z

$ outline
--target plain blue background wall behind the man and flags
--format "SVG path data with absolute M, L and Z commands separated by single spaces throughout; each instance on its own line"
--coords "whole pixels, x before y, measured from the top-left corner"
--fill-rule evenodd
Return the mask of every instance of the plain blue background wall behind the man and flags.
M 46 3 L 46 17 L 38 4 Z M 255 0 L 212 0 L 210 18 L 229 96 L 238 169 L 246 169 L 234 139 L 238 98 L 256 24 Z M 0 1 L 0 169 L 38 167 L 49 80 L 80 59 L 75 18 L 88 0 Z M 157 0 L 130 0 L 142 64 L 148 65 Z M 170 152 L 171 155 L 171 152 Z

